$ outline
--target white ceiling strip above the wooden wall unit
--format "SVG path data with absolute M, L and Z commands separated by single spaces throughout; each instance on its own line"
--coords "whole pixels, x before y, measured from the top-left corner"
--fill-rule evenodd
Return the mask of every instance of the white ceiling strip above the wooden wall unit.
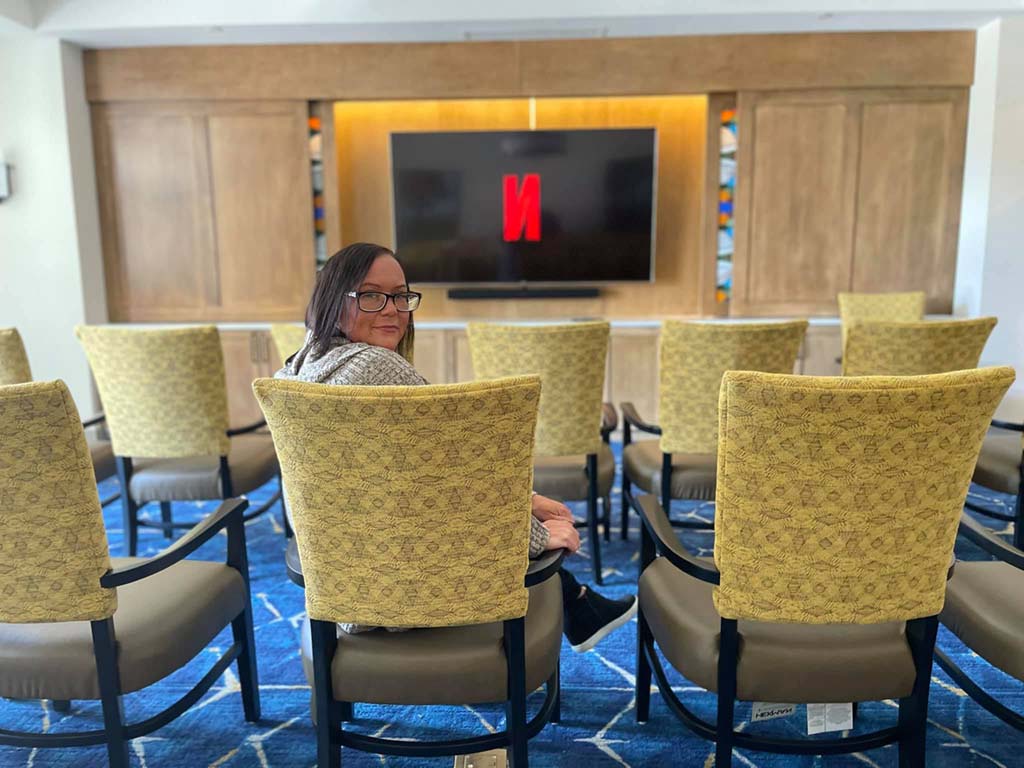
M 86 47 L 977 29 L 1024 0 L 0 0 L 0 36 Z

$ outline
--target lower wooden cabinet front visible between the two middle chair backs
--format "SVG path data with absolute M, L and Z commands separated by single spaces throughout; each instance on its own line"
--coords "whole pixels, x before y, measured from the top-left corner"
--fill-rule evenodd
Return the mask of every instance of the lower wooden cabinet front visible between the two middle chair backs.
M 657 421 L 657 328 L 612 328 L 609 391 L 615 408 L 632 402 L 640 416 Z

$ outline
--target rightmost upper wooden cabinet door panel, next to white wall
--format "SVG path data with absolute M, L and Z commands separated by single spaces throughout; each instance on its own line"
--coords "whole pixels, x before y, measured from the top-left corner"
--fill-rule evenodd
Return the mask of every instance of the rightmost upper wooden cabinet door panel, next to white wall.
M 967 90 L 864 99 L 852 289 L 924 290 L 929 312 L 951 312 Z

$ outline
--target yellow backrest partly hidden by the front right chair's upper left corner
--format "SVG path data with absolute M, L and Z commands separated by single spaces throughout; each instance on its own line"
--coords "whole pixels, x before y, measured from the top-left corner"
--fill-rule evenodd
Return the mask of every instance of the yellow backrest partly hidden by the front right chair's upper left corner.
M 662 451 L 714 454 L 722 374 L 792 374 L 806 332 L 807 321 L 663 323 L 657 414 Z

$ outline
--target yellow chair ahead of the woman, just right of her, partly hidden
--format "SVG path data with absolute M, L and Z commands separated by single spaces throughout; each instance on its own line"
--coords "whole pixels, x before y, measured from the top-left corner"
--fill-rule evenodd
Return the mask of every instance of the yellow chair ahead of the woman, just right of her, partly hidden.
M 605 425 L 603 403 L 609 329 L 607 323 L 470 323 L 466 329 L 477 379 L 524 374 L 541 377 L 534 487 L 562 501 L 587 500 L 591 566 L 598 584 L 602 583 L 598 499 L 604 507 L 607 541 L 615 475 L 615 459 L 607 442 L 613 425 Z

